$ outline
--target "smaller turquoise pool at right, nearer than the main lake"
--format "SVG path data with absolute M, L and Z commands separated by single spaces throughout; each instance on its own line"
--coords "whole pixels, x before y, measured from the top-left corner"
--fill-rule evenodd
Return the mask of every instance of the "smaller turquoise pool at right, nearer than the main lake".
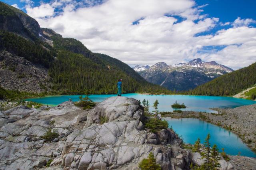
M 172 119 L 166 117 L 164 119 L 183 138 L 185 143 L 194 144 L 200 138 L 203 144 L 207 134 L 210 133 L 211 146 L 216 144 L 219 151 L 224 148 L 225 152 L 230 155 L 237 155 L 238 152 L 241 152 L 243 156 L 256 157 L 256 153 L 250 150 L 236 134 L 224 128 L 194 118 Z

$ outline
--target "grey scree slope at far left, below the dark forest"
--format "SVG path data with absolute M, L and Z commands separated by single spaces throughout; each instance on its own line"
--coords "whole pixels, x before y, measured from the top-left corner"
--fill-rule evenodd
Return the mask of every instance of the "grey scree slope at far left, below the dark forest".
M 0 86 L 8 90 L 42 92 L 50 89 L 48 70 L 23 57 L 0 52 Z

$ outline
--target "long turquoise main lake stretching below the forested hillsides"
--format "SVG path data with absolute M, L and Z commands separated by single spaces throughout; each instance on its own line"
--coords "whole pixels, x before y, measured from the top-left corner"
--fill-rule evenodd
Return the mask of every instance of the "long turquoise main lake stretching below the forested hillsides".
M 72 101 L 78 101 L 80 95 L 58 95 L 58 96 L 47 96 L 34 99 L 26 99 L 26 101 L 34 101 L 37 103 L 48 104 L 48 105 L 58 105 L 68 99 Z M 95 102 L 101 102 L 108 97 L 116 95 L 90 95 L 90 99 Z M 177 101 L 179 103 L 184 103 L 187 108 L 181 109 L 183 111 L 206 111 L 208 113 L 216 113 L 216 111 L 210 108 L 234 108 L 243 105 L 252 105 L 256 101 L 237 99 L 234 97 L 219 97 L 219 96 L 194 96 L 194 95 L 142 95 L 136 93 L 123 94 L 125 97 L 132 97 L 134 99 L 142 101 L 146 99 L 149 101 L 150 106 L 153 105 L 154 101 L 157 99 L 159 102 L 159 111 L 173 111 L 171 105 Z M 153 110 L 150 107 L 151 111 Z

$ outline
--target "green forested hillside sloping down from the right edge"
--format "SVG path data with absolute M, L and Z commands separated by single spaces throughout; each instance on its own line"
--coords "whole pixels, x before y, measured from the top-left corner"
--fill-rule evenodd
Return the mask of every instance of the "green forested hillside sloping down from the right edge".
M 189 91 L 192 95 L 231 96 L 256 83 L 256 63 L 222 75 Z

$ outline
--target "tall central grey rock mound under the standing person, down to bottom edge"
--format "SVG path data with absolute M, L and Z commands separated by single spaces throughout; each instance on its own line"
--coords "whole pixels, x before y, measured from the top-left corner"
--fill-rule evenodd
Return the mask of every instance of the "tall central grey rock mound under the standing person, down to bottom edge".
M 52 165 L 61 162 L 66 168 L 79 170 L 138 169 L 138 162 L 153 152 L 163 169 L 188 167 L 189 162 L 185 159 L 177 163 L 171 147 L 156 145 L 174 143 L 176 136 L 170 130 L 161 131 L 160 136 L 148 132 L 140 121 L 143 110 L 132 98 L 106 99 L 88 113 L 83 129 L 67 137 L 62 156 Z M 107 117 L 108 122 L 100 125 L 100 117 Z

